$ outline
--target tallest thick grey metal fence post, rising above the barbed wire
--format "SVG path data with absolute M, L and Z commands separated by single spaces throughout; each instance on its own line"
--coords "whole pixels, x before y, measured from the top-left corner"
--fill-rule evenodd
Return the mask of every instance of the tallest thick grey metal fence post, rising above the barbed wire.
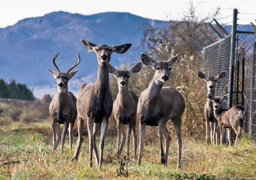
M 235 39 L 236 39 L 236 24 L 237 22 L 237 9 L 233 10 L 233 24 L 232 24 L 232 37 L 231 37 L 231 52 L 230 52 L 230 65 L 229 65 L 229 108 L 232 107 L 233 98 L 233 80 L 234 80 L 234 61 L 235 61 Z

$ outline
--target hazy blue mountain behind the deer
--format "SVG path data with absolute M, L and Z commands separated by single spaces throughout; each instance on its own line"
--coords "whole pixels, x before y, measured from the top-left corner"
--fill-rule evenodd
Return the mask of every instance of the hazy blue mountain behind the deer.
M 134 62 L 141 51 L 133 49 L 143 37 L 142 27 L 146 22 L 155 26 L 166 24 L 116 12 L 85 16 L 59 11 L 20 20 L 0 29 L 0 78 L 15 79 L 27 86 L 32 86 L 33 82 L 39 87 L 55 85 L 56 81 L 47 68 L 56 70 L 52 57 L 60 51 L 55 62 L 61 72 L 66 72 L 78 60 L 79 53 L 81 62 L 76 75 L 91 77 L 98 71 L 96 54 L 86 50 L 82 39 L 110 46 L 132 43 L 126 53 L 113 54 L 110 63 Z

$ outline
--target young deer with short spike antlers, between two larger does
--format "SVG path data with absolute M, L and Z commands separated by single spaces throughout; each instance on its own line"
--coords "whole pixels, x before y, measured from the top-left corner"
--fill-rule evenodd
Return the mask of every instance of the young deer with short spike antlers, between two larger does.
M 117 122 L 118 130 L 117 157 L 121 156 L 126 141 L 126 159 L 129 159 L 130 134 L 132 130 L 134 149 L 133 161 L 137 159 L 137 135 L 135 126 L 137 119 L 138 97 L 133 91 L 130 89 L 128 90 L 128 80 L 131 75 L 138 73 L 141 70 L 141 67 L 141 61 L 131 69 L 129 67 L 128 70 L 119 70 L 117 66 L 116 70 L 112 65 L 109 65 L 109 73 L 113 74 L 117 78 L 119 90 L 117 98 L 113 104 L 113 114 Z M 127 125 L 126 133 L 125 125 Z

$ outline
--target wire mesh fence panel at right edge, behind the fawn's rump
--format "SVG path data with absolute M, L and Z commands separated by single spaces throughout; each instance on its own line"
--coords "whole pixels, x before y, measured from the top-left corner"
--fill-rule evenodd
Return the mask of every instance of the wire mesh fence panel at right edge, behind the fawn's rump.
M 245 132 L 256 138 L 256 53 L 245 57 L 245 110 L 246 117 L 243 122 Z

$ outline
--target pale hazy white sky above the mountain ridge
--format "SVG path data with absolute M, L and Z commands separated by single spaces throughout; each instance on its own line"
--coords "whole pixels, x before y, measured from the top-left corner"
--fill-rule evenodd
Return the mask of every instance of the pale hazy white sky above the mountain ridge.
M 190 0 L 0 0 L 0 28 L 14 25 L 19 20 L 43 16 L 54 11 L 83 15 L 103 12 L 129 12 L 156 20 L 179 19 L 189 8 Z M 233 14 L 237 8 L 238 24 L 250 24 L 256 19 L 256 0 L 192 0 L 198 14 L 206 16 L 210 10 L 220 7 L 219 18 Z M 232 21 L 232 16 L 219 20 Z

